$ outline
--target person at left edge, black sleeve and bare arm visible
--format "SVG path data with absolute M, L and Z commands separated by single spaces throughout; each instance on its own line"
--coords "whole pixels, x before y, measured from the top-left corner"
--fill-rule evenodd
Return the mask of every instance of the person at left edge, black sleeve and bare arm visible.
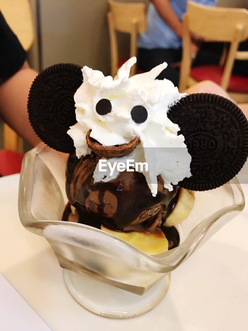
M 35 146 L 40 142 L 27 113 L 27 98 L 37 72 L 30 69 L 26 52 L 0 12 L 0 117 L 18 135 Z

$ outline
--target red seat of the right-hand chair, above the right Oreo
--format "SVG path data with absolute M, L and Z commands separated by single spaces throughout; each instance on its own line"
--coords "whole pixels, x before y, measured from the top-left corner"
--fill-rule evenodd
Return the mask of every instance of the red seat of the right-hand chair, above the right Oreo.
M 221 84 L 223 69 L 220 66 L 199 66 L 191 69 L 190 76 L 197 80 L 212 80 Z M 248 93 L 248 77 L 231 75 L 228 91 Z

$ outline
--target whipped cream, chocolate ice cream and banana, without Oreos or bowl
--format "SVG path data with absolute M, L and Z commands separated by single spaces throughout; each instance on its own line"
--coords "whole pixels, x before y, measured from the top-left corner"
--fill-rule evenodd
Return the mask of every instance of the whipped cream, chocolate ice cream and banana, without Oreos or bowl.
M 166 238 L 166 219 L 175 225 L 194 203 L 193 192 L 177 185 L 190 176 L 191 157 L 179 126 L 166 114 L 184 94 L 169 80 L 155 80 L 165 63 L 129 78 L 135 62 L 128 60 L 114 79 L 83 67 L 74 95 L 77 123 L 68 130 L 76 150 L 67 162 L 66 193 L 74 207 L 71 220 L 159 254 L 178 245 L 177 234 L 167 231 Z M 106 171 L 100 171 L 102 160 L 109 164 Z M 147 169 L 127 169 L 130 160 Z M 120 162 L 123 169 L 113 171 Z M 186 208 L 173 221 L 181 203 Z

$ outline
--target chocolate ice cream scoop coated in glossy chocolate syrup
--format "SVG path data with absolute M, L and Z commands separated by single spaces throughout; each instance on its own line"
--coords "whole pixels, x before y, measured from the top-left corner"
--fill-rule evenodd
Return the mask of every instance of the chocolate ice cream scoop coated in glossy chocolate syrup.
M 155 197 L 140 172 L 120 172 L 108 182 L 95 182 L 93 173 L 99 156 L 92 153 L 78 159 L 71 154 L 67 161 L 66 194 L 79 214 L 79 222 L 101 227 L 104 222 L 115 229 L 126 229 L 143 223 L 152 231 L 175 204 L 178 186 L 169 191 L 158 176 Z

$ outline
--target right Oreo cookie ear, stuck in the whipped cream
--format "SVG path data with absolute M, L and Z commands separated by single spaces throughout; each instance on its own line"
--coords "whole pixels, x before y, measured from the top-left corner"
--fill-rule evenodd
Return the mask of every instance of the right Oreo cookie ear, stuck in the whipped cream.
M 217 188 L 233 178 L 248 156 L 248 121 L 230 100 L 190 94 L 173 105 L 168 118 L 180 127 L 192 157 L 192 176 L 179 183 L 194 191 Z

